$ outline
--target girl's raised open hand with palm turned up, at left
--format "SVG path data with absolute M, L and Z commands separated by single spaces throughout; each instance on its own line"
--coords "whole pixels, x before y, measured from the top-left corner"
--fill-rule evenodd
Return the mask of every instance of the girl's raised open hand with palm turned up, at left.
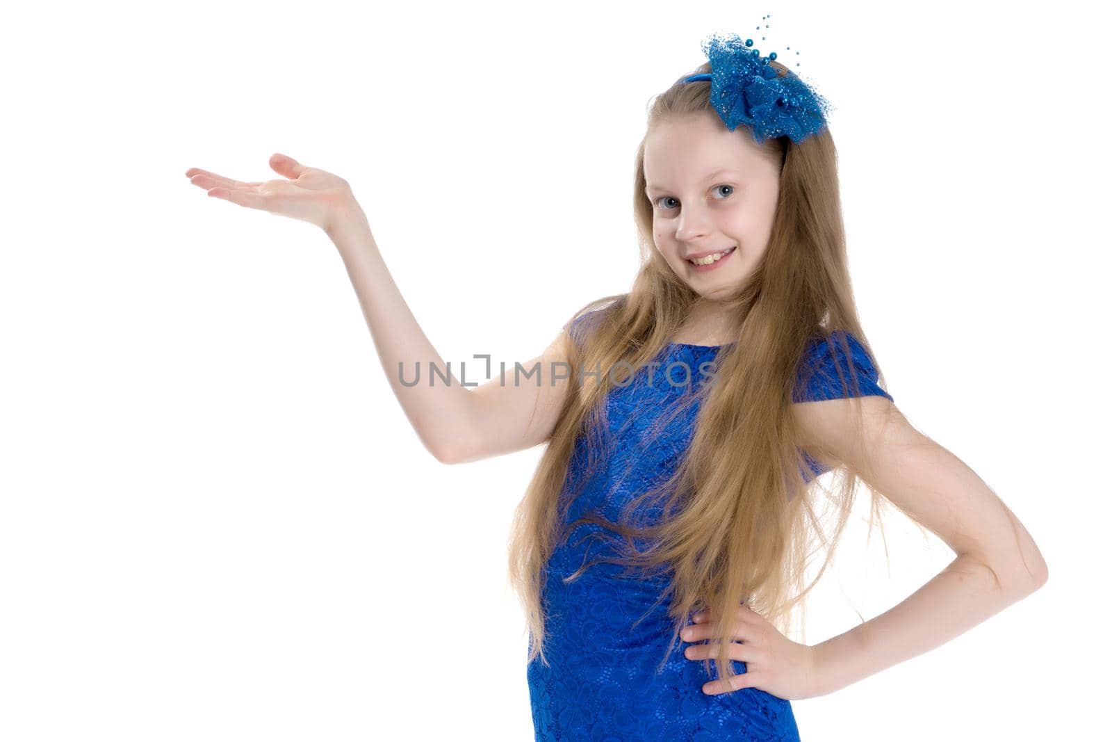
M 270 167 L 286 179 L 244 182 L 200 168 L 189 168 L 186 177 L 209 196 L 308 221 L 325 231 L 358 212 L 359 206 L 344 178 L 280 154 L 270 157 Z

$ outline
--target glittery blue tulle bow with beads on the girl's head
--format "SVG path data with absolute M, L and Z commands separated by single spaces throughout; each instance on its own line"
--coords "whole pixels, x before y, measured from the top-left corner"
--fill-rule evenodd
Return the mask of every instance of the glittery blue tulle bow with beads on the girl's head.
M 753 39 L 736 33 L 712 34 L 702 46 L 712 71 L 681 82 L 709 80 L 711 105 L 731 131 L 745 123 L 758 145 L 784 135 L 800 144 L 826 126 L 831 105 L 791 70 L 781 77 L 768 65 L 775 51 L 762 57 Z

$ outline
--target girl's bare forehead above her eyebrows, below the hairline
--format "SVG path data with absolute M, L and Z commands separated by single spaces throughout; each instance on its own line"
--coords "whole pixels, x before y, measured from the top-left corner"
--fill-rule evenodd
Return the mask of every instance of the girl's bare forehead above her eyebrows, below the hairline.
M 767 156 L 748 129 L 731 131 L 713 113 L 654 123 L 645 135 L 643 167 L 647 188 L 684 185 L 723 171 L 767 177 L 771 170 Z

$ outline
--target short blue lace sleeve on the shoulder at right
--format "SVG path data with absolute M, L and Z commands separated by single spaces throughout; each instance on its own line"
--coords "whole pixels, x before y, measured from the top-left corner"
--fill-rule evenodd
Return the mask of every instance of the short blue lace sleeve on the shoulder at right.
M 850 346 L 848 356 L 843 340 Z M 792 402 L 867 396 L 892 399 L 892 395 L 881 388 L 877 378 L 876 366 L 861 342 L 847 332 L 835 330 L 828 337 L 815 338 L 807 345 L 800 363 Z

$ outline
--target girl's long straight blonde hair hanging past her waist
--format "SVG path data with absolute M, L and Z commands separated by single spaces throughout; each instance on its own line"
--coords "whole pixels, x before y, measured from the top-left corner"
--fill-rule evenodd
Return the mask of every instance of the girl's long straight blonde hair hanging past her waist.
M 771 61 L 782 76 L 787 68 Z M 695 72 L 711 71 L 704 63 Z M 709 83 L 674 85 L 655 97 L 647 130 L 669 117 L 715 113 Z M 752 136 L 744 126 L 737 136 Z M 675 620 L 671 652 L 691 611 L 709 610 L 732 616 L 739 603 L 764 615 L 787 633 L 793 616 L 803 627 L 803 597 L 828 566 L 851 515 L 858 485 L 853 473 L 838 479 L 837 492 L 823 489 L 833 503 L 834 523 L 820 512 L 818 478 L 807 479 L 800 431 L 792 415 L 792 390 L 807 344 L 844 330 L 870 352 L 851 290 L 845 234 L 838 196 L 836 151 L 828 128 L 801 144 L 787 137 L 767 140 L 762 149 L 782 164 L 780 198 L 770 243 L 753 275 L 727 306 L 736 343 L 716 356 L 717 373 L 706 385 L 686 457 L 659 486 L 641 494 L 626 513 L 642 503 L 663 502 L 661 523 L 637 526 L 608 523 L 587 515 L 566 528 L 564 518 L 576 493 L 562 499 L 568 465 L 580 435 L 596 429 L 603 402 L 615 382 L 582 383 L 580 370 L 612 369 L 619 362 L 638 368 L 656 357 L 681 328 L 698 295 L 655 249 L 653 206 L 645 195 L 643 139 L 634 168 L 634 217 L 641 244 L 641 268 L 628 294 L 592 301 L 576 314 L 596 310 L 592 332 L 582 340 L 566 336 L 572 384 L 558 423 L 539 466 L 518 505 L 509 543 L 510 583 L 523 602 L 529 631 L 529 661 L 544 656 L 545 615 L 542 605 L 544 567 L 553 550 L 583 521 L 605 524 L 625 536 L 647 537 L 653 547 L 622 562 L 671 572 L 667 593 Z M 575 318 L 573 318 L 574 320 Z M 572 321 L 566 325 L 570 330 Z M 844 336 L 842 336 L 844 338 Z M 845 357 L 850 348 L 842 340 Z M 878 365 L 876 366 L 880 370 Z M 860 392 L 851 365 L 838 370 L 854 394 Z M 881 376 L 883 379 L 883 376 Z M 810 452 L 808 452 L 810 453 Z M 810 473 L 810 472 L 808 472 Z M 875 493 L 871 518 L 878 520 Z M 804 585 L 815 542 L 826 556 Z M 589 565 L 588 565 L 589 566 Z M 565 580 L 574 580 L 582 574 Z M 662 595 L 662 600 L 663 600 Z M 724 622 L 718 622 L 718 676 L 734 674 Z M 714 641 L 714 640 L 712 640 Z

